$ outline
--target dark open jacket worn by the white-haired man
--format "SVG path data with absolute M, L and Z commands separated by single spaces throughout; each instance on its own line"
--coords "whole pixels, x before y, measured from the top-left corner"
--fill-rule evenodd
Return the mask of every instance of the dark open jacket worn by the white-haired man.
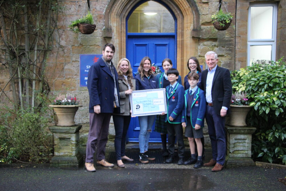
M 202 71 L 201 87 L 206 92 L 206 77 L 208 69 Z M 232 95 L 232 85 L 230 72 L 226 68 L 217 66 L 214 78 L 212 80 L 212 104 L 217 115 L 221 115 L 221 107 L 227 107 L 227 113 L 230 112 L 230 101 Z

